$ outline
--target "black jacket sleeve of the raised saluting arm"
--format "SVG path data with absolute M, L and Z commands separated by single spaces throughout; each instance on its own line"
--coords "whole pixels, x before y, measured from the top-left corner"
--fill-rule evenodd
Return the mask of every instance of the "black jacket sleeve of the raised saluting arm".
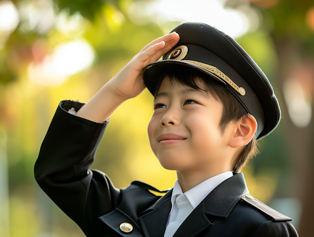
M 95 152 L 108 121 L 96 123 L 68 113 L 83 104 L 61 101 L 35 163 L 35 178 L 52 201 L 73 219 L 86 236 L 104 236 L 98 217 L 112 211 L 121 192 L 100 171 L 91 171 Z

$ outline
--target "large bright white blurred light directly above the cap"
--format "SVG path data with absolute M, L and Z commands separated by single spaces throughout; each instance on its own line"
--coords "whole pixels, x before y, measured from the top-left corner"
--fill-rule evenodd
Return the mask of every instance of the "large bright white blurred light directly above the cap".
M 138 25 L 156 22 L 165 33 L 172 30 L 169 22 L 203 22 L 232 37 L 239 37 L 259 26 L 258 13 L 247 3 L 233 9 L 226 8 L 221 0 L 135 1 L 129 8 L 129 16 Z

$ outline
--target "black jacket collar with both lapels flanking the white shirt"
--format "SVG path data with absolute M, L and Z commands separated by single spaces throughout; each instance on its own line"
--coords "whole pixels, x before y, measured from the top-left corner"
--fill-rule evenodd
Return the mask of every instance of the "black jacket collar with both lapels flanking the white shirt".
M 139 218 L 145 237 L 164 235 L 171 209 L 172 190 L 160 198 L 153 206 L 143 211 Z M 184 220 L 173 237 L 193 237 L 207 229 L 212 223 L 208 215 L 228 218 L 241 197 L 249 194 L 242 173 L 234 174 L 219 184 Z

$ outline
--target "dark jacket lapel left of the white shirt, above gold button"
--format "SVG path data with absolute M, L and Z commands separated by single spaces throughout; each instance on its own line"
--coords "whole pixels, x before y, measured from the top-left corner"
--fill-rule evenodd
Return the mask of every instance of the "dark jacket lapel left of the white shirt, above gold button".
M 152 207 L 149 207 L 139 217 L 145 237 L 162 237 L 166 230 L 168 216 L 171 210 L 172 190 L 161 197 Z

